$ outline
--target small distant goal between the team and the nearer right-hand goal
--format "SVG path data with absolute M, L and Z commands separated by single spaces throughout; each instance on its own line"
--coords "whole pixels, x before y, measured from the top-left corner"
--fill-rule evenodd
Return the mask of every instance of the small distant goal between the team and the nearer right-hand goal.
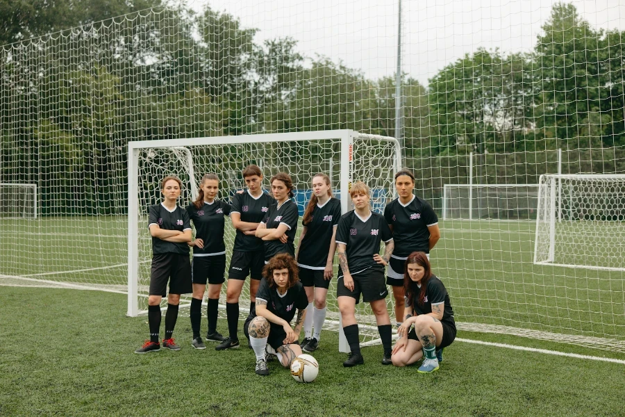
M 442 218 L 534 220 L 538 184 L 444 184 Z

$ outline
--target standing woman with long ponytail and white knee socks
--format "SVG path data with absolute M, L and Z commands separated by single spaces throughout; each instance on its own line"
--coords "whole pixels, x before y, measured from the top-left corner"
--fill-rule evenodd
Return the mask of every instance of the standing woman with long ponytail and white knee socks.
M 336 227 L 340 218 L 341 202 L 332 196 L 330 177 L 316 174 L 313 177 L 313 193 L 301 222 L 303 231 L 299 237 L 296 258 L 299 280 L 308 297 L 308 313 L 303 324 L 304 339 L 300 343 L 306 352 L 317 350 L 326 320 L 326 296 L 333 275 Z

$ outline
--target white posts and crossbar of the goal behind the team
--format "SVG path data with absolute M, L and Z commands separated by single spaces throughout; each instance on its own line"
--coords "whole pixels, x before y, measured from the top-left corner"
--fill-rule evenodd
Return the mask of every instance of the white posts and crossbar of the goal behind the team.
M 394 147 L 394 170 L 397 172 L 401 168 L 401 148 L 396 138 L 388 136 L 369 135 L 359 133 L 350 129 L 331 130 L 331 131 L 307 131 L 296 133 L 267 133 L 267 134 L 251 134 L 241 136 L 217 136 L 206 138 L 187 138 L 187 139 L 170 139 L 170 140 L 142 140 L 128 142 L 128 311 L 127 316 L 136 317 L 143 311 L 140 311 L 138 304 L 138 278 L 139 278 L 139 154 L 141 149 L 145 148 L 177 148 L 183 150 L 185 147 L 202 146 L 202 145 L 237 145 L 249 143 L 269 143 L 269 142 L 305 142 L 311 140 L 337 140 L 340 141 L 340 200 L 343 213 L 347 213 L 351 209 L 351 199 L 349 197 L 349 189 L 353 181 L 353 144 L 355 140 L 368 139 L 391 142 Z M 375 164 L 376 161 L 371 161 Z M 192 165 L 192 163 L 190 163 Z M 190 173 L 193 167 L 188 167 Z M 191 177 L 194 177 L 191 175 Z M 154 179 L 155 181 L 157 179 Z M 185 179 L 183 179 L 185 181 Z M 196 190 L 194 179 L 190 179 L 192 183 L 192 195 Z M 392 182 L 392 179 L 389 179 Z M 326 320 L 328 321 L 328 320 Z M 342 327 L 338 325 L 340 330 L 339 349 L 341 352 L 349 352 L 349 345 L 342 334 Z M 376 330 L 377 331 L 377 330 Z

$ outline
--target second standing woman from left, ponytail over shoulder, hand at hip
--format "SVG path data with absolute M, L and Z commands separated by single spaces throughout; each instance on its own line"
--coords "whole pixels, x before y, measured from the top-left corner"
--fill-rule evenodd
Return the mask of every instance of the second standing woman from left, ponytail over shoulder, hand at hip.
M 191 345 L 196 349 L 206 349 L 200 336 L 201 307 L 204 290 L 208 281 L 208 333 L 206 340 L 222 342 L 224 336 L 217 332 L 217 312 L 219 293 L 226 272 L 226 245 L 224 244 L 224 224 L 230 215 L 231 206 L 215 197 L 219 192 L 219 177 L 206 174 L 202 177 L 197 199 L 189 204 L 187 212 L 195 226 L 195 239 L 189 242 L 193 247 L 191 299 Z

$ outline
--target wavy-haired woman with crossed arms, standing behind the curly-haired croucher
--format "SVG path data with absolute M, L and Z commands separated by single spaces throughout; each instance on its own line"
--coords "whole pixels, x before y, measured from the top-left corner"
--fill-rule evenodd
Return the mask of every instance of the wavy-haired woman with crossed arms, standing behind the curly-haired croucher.
M 265 243 L 265 263 L 277 254 L 287 253 L 295 257 L 293 242 L 299 219 L 297 204 L 291 200 L 293 181 L 289 174 L 275 174 L 271 184 L 276 204 L 269 206 L 265 220 L 256 228 L 256 237 Z

